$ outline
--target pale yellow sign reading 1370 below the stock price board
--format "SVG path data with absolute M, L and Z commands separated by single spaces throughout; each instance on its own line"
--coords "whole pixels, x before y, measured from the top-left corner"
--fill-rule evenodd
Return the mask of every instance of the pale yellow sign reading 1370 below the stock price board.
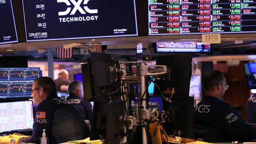
M 220 44 L 221 34 L 202 34 L 203 44 Z

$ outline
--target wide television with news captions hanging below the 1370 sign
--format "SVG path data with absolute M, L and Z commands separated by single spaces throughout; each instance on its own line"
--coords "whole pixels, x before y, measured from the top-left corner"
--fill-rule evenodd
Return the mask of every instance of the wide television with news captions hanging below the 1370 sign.
M 157 42 L 156 51 L 210 53 L 211 44 L 202 44 L 202 42 Z

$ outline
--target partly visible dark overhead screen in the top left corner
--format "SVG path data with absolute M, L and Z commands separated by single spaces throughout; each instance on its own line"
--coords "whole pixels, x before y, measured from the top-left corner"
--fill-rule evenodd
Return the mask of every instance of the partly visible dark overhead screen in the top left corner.
M 18 42 L 11 0 L 0 0 L 0 44 Z

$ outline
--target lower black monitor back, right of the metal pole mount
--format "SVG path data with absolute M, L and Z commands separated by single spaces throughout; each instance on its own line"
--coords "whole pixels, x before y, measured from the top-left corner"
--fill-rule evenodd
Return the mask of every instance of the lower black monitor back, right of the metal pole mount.
M 180 130 L 180 137 L 194 139 L 195 118 L 194 118 L 194 98 L 187 96 L 177 96 L 172 98 L 172 102 L 163 101 L 163 110 L 170 116 L 164 125 L 169 135 L 176 130 L 176 135 Z

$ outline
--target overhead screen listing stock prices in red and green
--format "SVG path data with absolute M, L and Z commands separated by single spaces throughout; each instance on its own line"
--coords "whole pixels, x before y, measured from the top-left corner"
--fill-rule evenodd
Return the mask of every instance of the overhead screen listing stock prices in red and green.
M 148 0 L 149 35 L 254 33 L 256 0 Z

